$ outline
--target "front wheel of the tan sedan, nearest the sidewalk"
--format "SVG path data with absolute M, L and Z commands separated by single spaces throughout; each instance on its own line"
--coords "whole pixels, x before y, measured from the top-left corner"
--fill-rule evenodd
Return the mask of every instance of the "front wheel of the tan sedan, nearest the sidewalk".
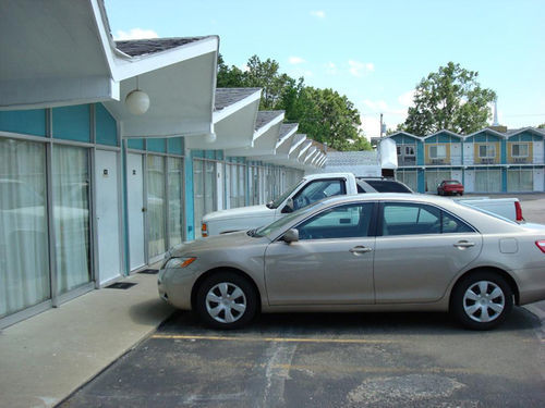
M 195 310 L 214 329 L 238 329 L 257 312 L 257 294 L 247 279 L 232 272 L 208 276 L 196 293 Z

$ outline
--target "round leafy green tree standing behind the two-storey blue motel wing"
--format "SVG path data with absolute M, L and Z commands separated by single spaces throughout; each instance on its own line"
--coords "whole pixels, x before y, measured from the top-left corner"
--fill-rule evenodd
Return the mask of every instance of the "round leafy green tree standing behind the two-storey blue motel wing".
M 477 76 L 477 72 L 449 62 L 422 78 L 414 94 L 414 107 L 409 108 L 399 129 L 424 136 L 441 129 L 470 134 L 485 127 L 496 92 L 482 88 Z

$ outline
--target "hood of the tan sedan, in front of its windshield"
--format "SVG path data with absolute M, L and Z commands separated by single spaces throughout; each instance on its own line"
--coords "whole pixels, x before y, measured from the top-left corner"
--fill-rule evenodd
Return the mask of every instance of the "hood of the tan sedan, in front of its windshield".
M 183 243 L 172 248 L 168 255 L 169 257 L 191 256 L 210 249 L 227 249 L 231 247 L 241 247 L 246 244 L 257 244 L 262 240 L 270 242 L 266 237 L 252 237 L 247 235 L 245 231 L 239 231 Z

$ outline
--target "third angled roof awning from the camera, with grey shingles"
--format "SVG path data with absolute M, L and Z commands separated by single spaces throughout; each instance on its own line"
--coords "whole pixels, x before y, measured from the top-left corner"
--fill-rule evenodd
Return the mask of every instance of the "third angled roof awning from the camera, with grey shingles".
M 265 156 L 275 154 L 284 111 L 259 111 L 255 121 L 253 146 L 227 149 L 226 156 Z

